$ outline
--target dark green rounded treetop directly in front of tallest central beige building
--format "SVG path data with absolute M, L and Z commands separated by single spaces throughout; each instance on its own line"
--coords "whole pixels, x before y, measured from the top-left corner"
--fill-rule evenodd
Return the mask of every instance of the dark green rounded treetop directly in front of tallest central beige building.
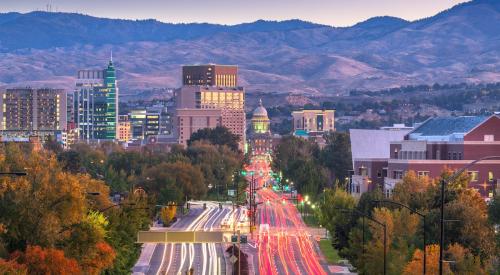
M 188 140 L 188 146 L 197 140 L 206 140 L 214 145 L 226 145 L 233 151 L 237 152 L 240 137 L 229 131 L 228 128 L 217 126 L 215 128 L 204 128 L 191 134 Z

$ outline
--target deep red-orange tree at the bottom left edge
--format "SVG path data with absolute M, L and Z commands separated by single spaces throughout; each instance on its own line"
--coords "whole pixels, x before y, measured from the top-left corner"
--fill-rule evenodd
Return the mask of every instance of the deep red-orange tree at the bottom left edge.
M 28 246 L 24 253 L 14 253 L 13 258 L 28 268 L 29 274 L 80 274 L 81 270 L 75 259 L 66 258 L 62 250 Z

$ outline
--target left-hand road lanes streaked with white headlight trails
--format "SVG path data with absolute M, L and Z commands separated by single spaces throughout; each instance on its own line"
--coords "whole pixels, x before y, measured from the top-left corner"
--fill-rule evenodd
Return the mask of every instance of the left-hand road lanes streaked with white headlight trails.
M 181 216 L 169 230 L 219 230 L 221 223 L 232 224 L 240 215 L 240 210 L 233 212 L 228 206 L 220 209 L 218 203 L 195 202 L 191 203 L 189 214 Z M 134 274 L 185 274 L 190 268 L 195 274 L 226 274 L 224 249 L 221 244 L 157 244 L 147 270 L 136 267 Z

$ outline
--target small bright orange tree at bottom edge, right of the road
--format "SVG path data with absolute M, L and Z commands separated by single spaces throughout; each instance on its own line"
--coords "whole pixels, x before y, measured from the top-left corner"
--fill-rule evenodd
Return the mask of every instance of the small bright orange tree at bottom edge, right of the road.
M 432 244 L 426 247 L 426 271 L 427 274 L 438 274 L 439 273 L 439 245 Z M 424 253 L 420 249 L 416 249 L 413 253 L 412 260 L 406 265 L 403 274 L 405 275 L 420 275 L 423 273 L 423 259 Z M 450 265 L 448 263 L 443 264 L 443 273 L 452 274 L 450 270 Z

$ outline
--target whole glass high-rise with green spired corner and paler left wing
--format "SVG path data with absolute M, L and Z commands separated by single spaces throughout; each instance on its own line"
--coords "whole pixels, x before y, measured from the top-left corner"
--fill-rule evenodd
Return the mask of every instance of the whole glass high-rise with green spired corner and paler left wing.
M 82 140 L 113 140 L 118 131 L 118 87 L 113 62 L 104 70 L 81 70 L 74 95 L 75 123 Z

